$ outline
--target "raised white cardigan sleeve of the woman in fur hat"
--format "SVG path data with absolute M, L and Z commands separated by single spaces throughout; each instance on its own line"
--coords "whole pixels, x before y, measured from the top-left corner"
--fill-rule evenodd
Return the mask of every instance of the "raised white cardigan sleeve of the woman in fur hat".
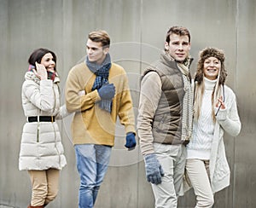
M 216 119 L 220 126 L 228 133 L 230 136 L 237 136 L 241 130 L 241 121 L 239 118 L 237 105 L 236 105 L 236 95 L 229 88 L 227 90 L 227 101 L 225 101 L 226 108 L 220 109 Z

